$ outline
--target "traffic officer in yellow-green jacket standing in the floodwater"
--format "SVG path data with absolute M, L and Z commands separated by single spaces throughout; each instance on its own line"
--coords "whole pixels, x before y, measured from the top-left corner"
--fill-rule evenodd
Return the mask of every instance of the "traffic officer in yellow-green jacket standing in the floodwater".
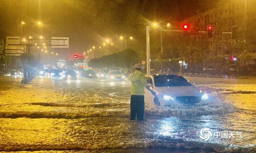
M 128 76 L 131 81 L 131 103 L 130 103 L 130 120 L 135 120 L 136 114 L 139 121 L 144 120 L 144 87 L 147 88 L 153 95 L 156 92 L 150 89 L 145 80 L 144 74 L 141 72 L 143 65 L 135 64 L 135 72 Z

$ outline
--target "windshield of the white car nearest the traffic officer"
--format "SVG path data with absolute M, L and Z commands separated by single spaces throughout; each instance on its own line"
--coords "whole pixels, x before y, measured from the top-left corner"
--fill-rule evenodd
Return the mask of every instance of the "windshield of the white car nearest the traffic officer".
M 177 75 L 154 75 L 155 86 L 192 86 L 188 80 Z

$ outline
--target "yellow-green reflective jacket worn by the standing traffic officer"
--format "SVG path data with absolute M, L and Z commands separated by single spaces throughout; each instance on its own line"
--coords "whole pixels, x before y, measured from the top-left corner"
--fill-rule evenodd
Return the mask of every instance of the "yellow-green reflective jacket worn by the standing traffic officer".
M 144 87 L 148 85 L 145 80 L 144 74 L 140 71 L 135 71 L 128 76 L 128 79 L 132 83 L 132 95 L 144 95 Z

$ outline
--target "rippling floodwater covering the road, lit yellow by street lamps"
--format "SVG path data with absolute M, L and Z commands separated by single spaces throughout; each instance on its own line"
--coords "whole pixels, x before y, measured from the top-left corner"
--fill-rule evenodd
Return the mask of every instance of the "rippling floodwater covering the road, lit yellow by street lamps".
M 186 78 L 210 99 L 146 108 L 138 122 L 129 120 L 127 80 L 0 77 L 0 151 L 256 153 L 256 79 Z

